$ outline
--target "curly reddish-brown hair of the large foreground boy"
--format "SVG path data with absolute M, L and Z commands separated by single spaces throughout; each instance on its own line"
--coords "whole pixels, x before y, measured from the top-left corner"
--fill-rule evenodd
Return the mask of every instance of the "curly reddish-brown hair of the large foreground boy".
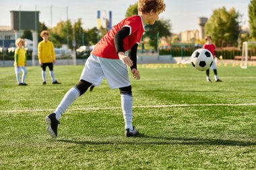
M 165 10 L 164 0 L 138 0 L 138 11 L 142 13 L 150 13 L 153 10 L 162 12 Z

